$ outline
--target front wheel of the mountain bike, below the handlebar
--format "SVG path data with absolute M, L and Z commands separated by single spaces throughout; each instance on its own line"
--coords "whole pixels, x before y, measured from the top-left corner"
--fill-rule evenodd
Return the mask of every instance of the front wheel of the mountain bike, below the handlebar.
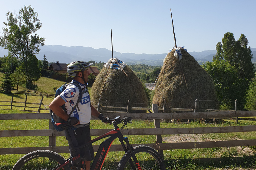
M 134 155 L 138 162 L 133 159 L 130 151 L 127 151 L 120 160 L 117 170 L 166 170 L 163 158 L 152 147 L 135 146 Z

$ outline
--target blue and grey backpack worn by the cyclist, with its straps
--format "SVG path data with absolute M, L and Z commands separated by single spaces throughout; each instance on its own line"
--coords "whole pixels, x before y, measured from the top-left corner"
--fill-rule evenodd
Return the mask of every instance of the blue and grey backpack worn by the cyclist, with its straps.
M 60 86 L 57 90 L 56 90 L 56 93 L 55 93 L 55 98 L 60 95 L 66 88 L 69 84 L 74 84 L 76 85 L 78 88 L 79 88 L 79 96 L 78 96 L 78 100 L 77 100 L 77 103 L 76 105 L 73 107 L 72 111 L 69 113 L 69 116 L 73 113 L 73 111 L 75 110 L 75 108 L 77 107 L 78 103 L 81 101 L 82 99 L 82 89 L 80 87 L 80 85 L 77 83 L 77 82 L 70 82 L 70 83 L 66 83 L 66 84 L 63 84 L 62 86 Z M 66 108 L 65 108 L 65 104 L 61 106 L 61 108 L 64 110 L 65 113 L 67 113 L 66 111 Z M 52 125 L 53 127 L 57 130 L 57 131 L 63 131 L 64 128 L 61 128 L 61 127 L 58 127 L 55 125 L 55 123 L 66 123 L 66 121 L 64 121 L 63 119 L 61 119 L 60 117 L 58 117 L 55 113 L 53 113 L 53 111 L 51 110 L 51 122 L 52 122 Z

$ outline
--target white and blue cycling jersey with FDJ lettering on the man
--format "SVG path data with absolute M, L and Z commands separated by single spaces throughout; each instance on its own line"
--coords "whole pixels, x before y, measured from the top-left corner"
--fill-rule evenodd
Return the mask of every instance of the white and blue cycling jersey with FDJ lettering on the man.
M 80 121 L 81 125 L 87 124 L 91 120 L 91 98 L 86 86 L 76 80 L 72 80 L 77 82 L 82 89 L 82 99 L 77 107 L 74 109 L 73 113 L 70 115 L 71 117 L 75 117 Z M 75 104 L 77 103 L 79 96 L 79 88 L 74 84 L 69 84 L 66 89 L 60 94 L 60 97 L 66 102 L 65 107 L 67 110 L 67 114 L 69 114 Z

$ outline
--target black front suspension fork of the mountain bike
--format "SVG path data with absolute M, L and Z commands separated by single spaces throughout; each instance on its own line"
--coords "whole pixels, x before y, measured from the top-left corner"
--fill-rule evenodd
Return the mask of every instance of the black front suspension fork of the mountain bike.
M 131 155 L 132 155 L 133 161 L 132 161 L 132 159 L 130 158 L 130 159 L 129 159 L 129 163 L 130 163 L 132 169 L 133 169 L 133 170 L 136 170 L 136 167 L 137 167 L 138 170 L 141 170 L 139 161 L 137 160 L 137 158 L 136 158 L 136 156 L 135 156 L 135 154 L 134 154 L 134 149 L 133 149 L 132 145 L 129 143 L 128 138 L 127 138 L 127 137 L 122 137 L 122 140 L 121 140 L 121 139 L 119 139 L 119 140 L 120 140 L 120 142 L 121 142 L 121 144 L 122 144 L 122 146 L 123 146 L 125 152 L 127 152 L 128 150 L 130 150 L 130 153 L 131 153 Z M 124 140 L 125 143 L 127 144 L 127 148 L 125 147 L 125 144 L 124 144 L 123 140 Z M 134 163 L 135 163 L 135 164 L 134 164 Z

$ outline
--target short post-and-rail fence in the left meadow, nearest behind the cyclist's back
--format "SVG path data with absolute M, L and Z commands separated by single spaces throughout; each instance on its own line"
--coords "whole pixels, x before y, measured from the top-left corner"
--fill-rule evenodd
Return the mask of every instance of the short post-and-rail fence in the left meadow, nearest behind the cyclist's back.
M 22 107 L 22 108 L 24 108 L 23 110 L 21 110 L 21 109 L 17 109 L 17 110 L 20 110 L 20 111 L 23 111 L 23 112 L 37 112 L 37 113 L 40 113 L 40 110 L 49 110 L 49 108 L 47 108 L 46 105 L 43 104 L 43 99 L 44 99 L 44 97 L 42 97 L 41 100 L 39 99 L 40 103 L 31 103 L 31 102 L 27 102 L 27 95 L 26 95 L 25 102 L 17 102 L 17 101 L 13 101 L 13 95 L 12 95 L 12 100 L 11 101 L 0 101 L 0 103 L 10 103 L 10 105 L 0 105 L 0 106 L 10 107 L 10 109 L 2 109 L 2 108 L 0 108 L 0 109 L 1 110 L 12 110 L 12 107 Z M 23 105 L 22 106 L 14 105 L 15 103 L 21 103 Z M 27 106 L 28 104 L 30 106 Z M 37 105 L 37 107 L 35 105 Z M 43 106 L 43 108 L 42 108 L 42 106 Z M 34 108 L 34 110 L 28 110 L 28 108 L 30 108 L 30 109 Z M 37 111 L 35 111 L 35 109 Z

